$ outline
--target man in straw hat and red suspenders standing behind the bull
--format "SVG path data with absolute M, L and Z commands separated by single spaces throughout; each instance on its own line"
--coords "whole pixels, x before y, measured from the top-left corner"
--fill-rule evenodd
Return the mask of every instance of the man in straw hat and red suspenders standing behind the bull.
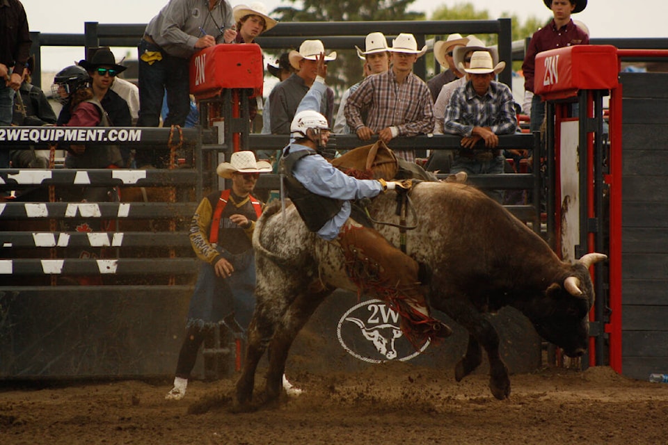
M 216 168 L 232 186 L 214 191 L 200 202 L 190 225 L 190 242 L 201 260 L 197 284 L 186 316 L 174 387 L 165 396 L 178 401 L 186 395 L 198 350 L 216 325 L 242 332 L 255 307 L 255 257 L 251 238 L 262 202 L 253 193 L 260 173 L 271 172 L 267 161 L 250 151 L 234 152 Z

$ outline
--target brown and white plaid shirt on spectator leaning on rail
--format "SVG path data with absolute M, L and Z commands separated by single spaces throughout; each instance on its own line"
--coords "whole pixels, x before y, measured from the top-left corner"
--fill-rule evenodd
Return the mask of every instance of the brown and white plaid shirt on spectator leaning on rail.
M 362 115 L 367 111 L 367 122 Z M 365 125 L 378 133 L 397 127 L 399 136 L 415 136 L 434 131 L 434 104 L 427 84 L 411 72 L 403 83 L 397 83 L 392 70 L 368 76 L 351 92 L 344 108 L 353 131 Z

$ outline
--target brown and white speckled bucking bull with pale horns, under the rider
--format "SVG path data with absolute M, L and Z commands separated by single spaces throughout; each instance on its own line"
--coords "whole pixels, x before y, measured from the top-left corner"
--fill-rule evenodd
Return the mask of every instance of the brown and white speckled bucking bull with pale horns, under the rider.
M 587 314 L 594 302 L 589 266 L 604 254 L 587 254 L 575 264 L 559 260 L 543 239 L 476 188 L 423 182 L 410 194 L 417 228 L 406 233 L 407 252 L 431 270 L 429 302 L 469 332 L 466 354 L 456 364 L 459 381 L 482 362 L 490 364 L 489 388 L 498 399 L 510 394 L 508 370 L 499 354 L 499 335 L 484 316 L 511 306 L 566 355 L 587 348 Z M 399 223 L 395 193 L 376 197 L 374 220 Z M 409 221 L 410 223 L 410 221 Z M 399 229 L 376 227 L 399 245 Z M 333 243 L 308 232 L 296 209 L 269 207 L 253 236 L 257 261 L 257 307 L 248 329 L 246 361 L 237 382 L 237 403 L 247 407 L 257 363 L 271 357 L 263 401 L 280 394 L 292 341 L 334 289 L 356 290 L 344 273 L 344 257 Z

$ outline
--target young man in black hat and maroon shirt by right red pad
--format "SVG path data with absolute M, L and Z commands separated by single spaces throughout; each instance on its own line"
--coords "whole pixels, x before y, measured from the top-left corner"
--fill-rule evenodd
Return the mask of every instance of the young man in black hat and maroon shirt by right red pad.
M 532 35 L 522 64 L 524 89 L 534 92 L 536 54 L 548 49 L 568 47 L 573 44 L 589 44 L 589 35 L 571 19 L 571 14 L 580 13 L 587 7 L 587 0 L 543 0 L 552 10 L 550 23 Z M 531 102 L 531 131 L 539 131 L 545 118 L 545 104 L 534 95 Z

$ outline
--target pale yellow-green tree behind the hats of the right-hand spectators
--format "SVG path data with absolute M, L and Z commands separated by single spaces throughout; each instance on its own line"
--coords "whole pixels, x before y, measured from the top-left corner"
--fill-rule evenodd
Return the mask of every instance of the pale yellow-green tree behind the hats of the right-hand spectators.
M 453 6 L 441 6 L 434 11 L 431 20 L 491 20 L 498 18 L 509 18 L 512 21 L 513 41 L 525 40 L 531 37 L 535 31 L 550 21 L 550 14 L 546 13 L 544 19 L 537 17 L 528 17 L 526 22 L 522 23 L 515 14 L 501 13 L 501 17 L 490 17 L 487 10 L 476 10 L 473 3 L 456 3 Z M 498 40 L 496 34 L 477 35 L 477 38 L 487 44 L 495 44 Z M 433 60 L 433 58 L 432 58 Z M 522 60 L 513 62 L 513 71 L 518 71 L 522 67 Z

